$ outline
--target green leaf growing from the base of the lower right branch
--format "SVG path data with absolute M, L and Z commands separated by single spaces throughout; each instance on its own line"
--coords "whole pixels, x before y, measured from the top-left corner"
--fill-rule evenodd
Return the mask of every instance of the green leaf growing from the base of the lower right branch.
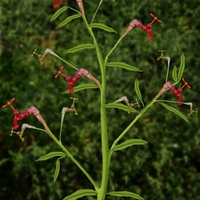
M 129 139 L 129 140 L 126 140 L 125 142 L 122 142 L 119 145 L 116 145 L 111 150 L 112 151 L 121 151 L 121 150 L 124 150 L 127 147 L 131 147 L 133 145 L 145 145 L 145 144 L 147 144 L 147 141 L 145 141 L 145 140 L 141 140 L 141 139 Z

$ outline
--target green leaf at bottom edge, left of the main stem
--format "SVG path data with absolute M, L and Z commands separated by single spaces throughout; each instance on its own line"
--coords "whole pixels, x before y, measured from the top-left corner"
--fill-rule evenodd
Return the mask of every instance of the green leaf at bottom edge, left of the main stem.
M 84 196 L 96 196 L 97 192 L 92 189 L 77 190 L 69 196 L 66 196 L 63 200 L 75 200 Z

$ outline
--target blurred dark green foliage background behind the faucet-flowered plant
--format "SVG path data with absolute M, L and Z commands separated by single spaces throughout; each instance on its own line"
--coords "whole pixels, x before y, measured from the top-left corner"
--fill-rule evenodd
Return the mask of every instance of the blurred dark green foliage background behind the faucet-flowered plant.
M 45 57 L 44 65 L 38 58 L 31 57 L 34 49 L 43 53 L 46 48 L 78 68 L 88 69 L 100 79 L 99 66 L 93 50 L 77 54 L 64 51 L 80 43 L 90 43 L 82 19 L 76 19 L 61 29 L 56 26 L 67 16 L 67 10 L 56 21 L 50 23 L 56 11 L 54 1 L 1 1 L 0 40 L 0 104 L 16 98 L 13 106 L 24 111 L 36 106 L 56 136 L 59 134 L 62 107 L 72 103 L 70 96 L 79 98 L 76 108 L 79 115 L 67 113 L 63 126 L 63 144 L 75 158 L 101 180 L 101 144 L 99 92 L 84 90 L 73 95 L 63 95 L 67 84 L 63 78 L 54 76 L 62 65 L 64 73 L 75 71 L 53 56 Z M 91 20 L 99 1 L 84 0 L 85 13 Z M 64 5 L 64 4 L 63 4 Z M 67 5 L 78 9 L 76 1 Z M 162 20 L 153 25 L 153 40 L 141 29 L 133 29 L 110 56 L 109 61 L 121 61 L 140 68 L 142 73 L 109 68 L 107 70 L 107 102 L 113 102 L 126 95 L 134 102 L 134 81 L 140 83 L 144 103 L 147 104 L 165 82 L 167 63 L 157 61 L 159 50 L 171 58 L 171 68 L 180 65 L 180 55 L 186 57 L 184 78 L 191 89 L 184 89 L 183 101 L 193 102 L 194 109 L 200 108 L 200 0 L 104 0 L 95 22 L 105 23 L 117 33 L 95 30 L 100 48 L 105 56 L 133 19 L 143 24 L 152 19 L 153 13 Z M 169 81 L 172 80 L 171 72 Z M 81 82 L 82 81 L 82 82 Z M 79 83 L 91 83 L 82 78 Z M 181 86 L 179 83 L 178 87 Z M 168 92 L 162 99 L 177 100 Z M 177 106 L 187 115 L 189 107 Z M 109 142 L 126 128 L 134 118 L 121 110 L 109 109 Z M 35 162 L 50 152 L 59 150 L 52 140 L 42 132 L 25 131 L 25 141 L 18 136 L 10 137 L 13 114 L 10 108 L 0 109 L 0 199 L 35 200 L 62 199 L 77 189 L 91 188 L 89 181 L 69 159 L 61 160 L 58 180 L 53 184 L 55 160 Z M 135 146 L 114 153 L 111 162 L 109 190 L 129 190 L 151 200 L 200 199 L 200 130 L 199 115 L 189 117 L 190 124 L 155 104 L 136 123 L 124 139 L 141 138 L 146 146 Z M 23 123 L 41 127 L 34 116 Z M 20 122 L 21 124 L 21 122 Z M 89 198 L 85 198 L 89 199 Z M 107 197 L 106 199 L 117 199 Z M 126 198 L 129 199 L 129 198 Z

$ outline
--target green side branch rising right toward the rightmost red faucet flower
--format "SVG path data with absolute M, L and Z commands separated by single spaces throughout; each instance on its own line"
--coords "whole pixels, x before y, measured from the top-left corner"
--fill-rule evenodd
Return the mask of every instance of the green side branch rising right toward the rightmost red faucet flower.
M 156 102 L 155 99 L 153 99 L 149 104 L 147 104 L 141 112 L 135 117 L 135 119 L 124 129 L 124 131 L 117 137 L 117 139 L 113 142 L 110 152 L 112 152 L 112 149 L 117 145 L 117 143 L 124 137 L 124 135 L 131 129 L 131 127 L 137 122 L 138 119 Z

